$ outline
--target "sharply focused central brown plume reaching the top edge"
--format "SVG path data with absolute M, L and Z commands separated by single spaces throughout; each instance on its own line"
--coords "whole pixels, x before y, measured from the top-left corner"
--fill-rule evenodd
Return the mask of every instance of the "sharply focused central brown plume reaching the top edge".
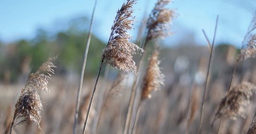
M 127 30 L 131 30 L 131 25 L 134 25 L 133 5 L 136 0 L 127 0 L 123 3 L 120 10 L 117 11 L 115 21 L 111 27 L 110 39 L 107 47 L 103 50 L 102 61 L 103 65 L 110 64 L 113 68 L 119 68 L 124 73 L 129 71 L 136 74 L 136 66 L 133 61 L 133 55 L 137 51 L 143 51 L 136 44 L 128 41 L 132 36 Z

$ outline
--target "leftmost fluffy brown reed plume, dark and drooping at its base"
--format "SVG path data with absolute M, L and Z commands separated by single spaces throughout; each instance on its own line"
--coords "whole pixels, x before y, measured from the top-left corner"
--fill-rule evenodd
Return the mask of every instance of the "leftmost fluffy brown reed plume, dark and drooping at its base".
M 40 112 L 43 110 L 43 106 L 37 90 L 43 90 L 45 93 L 49 92 L 47 84 L 51 74 L 54 73 L 53 68 L 56 68 L 52 63 L 52 60 L 56 58 L 57 57 L 49 58 L 39 67 L 37 72 L 34 74 L 31 73 L 27 79 L 25 87 L 22 89 L 20 97 L 15 104 L 10 134 L 12 134 L 12 129 L 15 126 L 25 124 L 28 119 L 35 122 L 38 128 L 40 128 Z

